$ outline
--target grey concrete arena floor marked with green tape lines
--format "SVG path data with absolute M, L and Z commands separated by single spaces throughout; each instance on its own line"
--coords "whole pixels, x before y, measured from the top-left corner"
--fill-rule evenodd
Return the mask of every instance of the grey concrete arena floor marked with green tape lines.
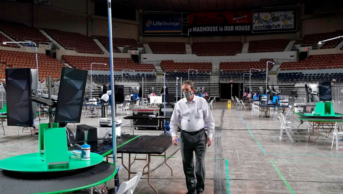
M 331 149 L 331 140 L 320 134 L 308 139 L 307 130 L 294 131 L 294 142 L 286 135 L 279 141 L 280 122 L 277 118 L 251 116 L 241 107 L 226 107 L 226 102 L 213 105 L 216 122 L 214 144 L 206 153 L 206 183 L 204 194 L 339 194 L 343 193 L 343 152 Z M 120 114 L 120 113 L 119 113 Z M 123 117 L 125 115 L 118 115 Z M 221 119 L 222 116 L 222 119 Z M 297 118 L 297 116 L 295 116 Z M 98 118 L 82 118 L 81 123 L 97 126 Z M 299 123 L 292 119 L 295 129 Z M 129 121 L 123 120 L 123 126 Z M 4 122 L 6 125 L 6 122 Z M 73 124 L 69 124 L 73 131 Z M 300 125 L 299 129 L 305 129 Z M 26 130 L 17 138 L 18 127 L 5 126 L 6 135 L 0 136 L 0 159 L 19 154 L 36 152 L 38 136 Z M 122 132 L 129 133 L 129 128 Z M 162 131 L 137 130 L 137 135 L 160 135 Z M 330 134 L 332 137 L 332 135 Z M 159 194 L 183 194 L 187 192 L 179 146 L 170 147 L 167 155 L 172 156 L 170 169 L 160 164 L 163 158 L 151 161 L 151 184 Z M 137 158 L 146 158 L 137 155 Z M 127 165 L 127 156 L 124 156 Z M 141 171 L 145 161 L 136 161 L 133 170 Z M 159 166 L 159 167 L 157 167 Z M 157 168 L 156 168 L 157 167 Z M 120 181 L 127 180 L 127 171 L 120 170 Z M 113 187 L 113 180 L 107 183 Z M 75 192 L 85 194 L 86 191 Z M 147 184 L 147 175 L 142 176 L 136 194 L 154 194 Z

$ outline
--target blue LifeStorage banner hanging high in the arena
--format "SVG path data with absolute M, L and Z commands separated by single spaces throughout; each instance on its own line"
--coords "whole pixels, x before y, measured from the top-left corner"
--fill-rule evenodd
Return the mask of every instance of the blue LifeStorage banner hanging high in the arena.
M 181 13 L 142 13 L 142 35 L 182 34 Z

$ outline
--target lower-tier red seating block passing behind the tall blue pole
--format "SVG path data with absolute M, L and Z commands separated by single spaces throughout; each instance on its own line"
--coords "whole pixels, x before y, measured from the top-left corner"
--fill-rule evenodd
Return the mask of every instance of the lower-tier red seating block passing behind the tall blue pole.
M 76 69 L 91 70 L 91 63 L 93 62 L 110 64 L 109 57 L 63 55 L 62 59 L 64 59 L 66 63 L 70 64 Z M 114 59 L 113 62 L 115 64 L 114 66 L 115 71 L 122 71 L 124 69 L 143 71 L 143 72 L 155 71 L 155 67 L 153 66 L 153 64 L 139 64 L 139 63 L 134 62 L 130 58 L 113 58 L 113 59 Z M 110 67 L 109 65 L 94 64 L 92 65 L 92 70 L 109 71 Z

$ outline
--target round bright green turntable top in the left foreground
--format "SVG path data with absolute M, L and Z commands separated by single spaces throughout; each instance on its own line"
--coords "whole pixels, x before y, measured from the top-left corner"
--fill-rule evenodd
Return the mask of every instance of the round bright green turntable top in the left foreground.
M 0 168 L 4 170 L 20 171 L 20 172 L 50 172 L 50 171 L 64 171 L 84 168 L 88 166 L 94 166 L 103 161 L 103 156 L 91 153 L 91 160 L 82 161 L 73 159 L 71 157 L 72 152 L 68 151 L 69 154 L 69 167 L 56 166 L 54 168 L 47 169 L 44 156 L 37 153 L 24 154 L 19 156 L 14 156 L 0 160 Z

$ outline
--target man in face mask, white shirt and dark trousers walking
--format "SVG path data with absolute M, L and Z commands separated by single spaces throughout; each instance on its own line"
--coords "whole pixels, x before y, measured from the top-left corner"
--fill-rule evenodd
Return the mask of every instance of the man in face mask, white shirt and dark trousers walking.
M 215 123 L 212 112 L 205 99 L 195 96 L 194 83 L 185 81 L 182 84 L 183 96 L 172 112 L 172 143 L 177 145 L 177 129 L 181 120 L 180 150 L 183 171 L 186 176 L 187 194 L 202 194 L 205 189 L 205 154 L 206 144 L 212 143 Z M 207 125 L 207 134 L 204 130 Z M 193 162 L 196 153 L 196 166 Z

